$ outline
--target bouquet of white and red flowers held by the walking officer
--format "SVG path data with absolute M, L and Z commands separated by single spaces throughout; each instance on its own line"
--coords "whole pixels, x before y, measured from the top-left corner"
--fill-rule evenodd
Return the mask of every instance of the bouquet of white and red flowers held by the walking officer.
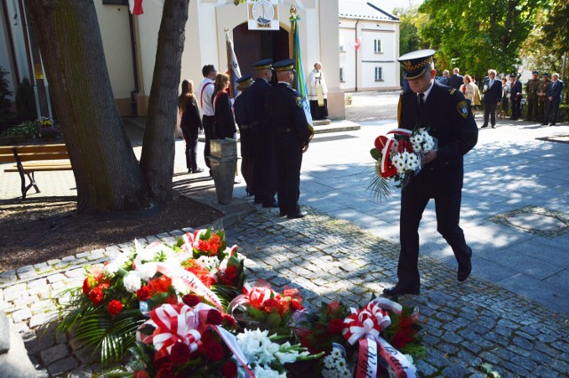
M 370 185 L 381 200 L 392 192 L 391 182 L 397 187 L 405 187 L 421 171 L 423 157 L 437 148 L 437 139 L 429 135 L 428 129 L 394 129 L 388 135 L 375 138 L 372 148 L 375 160 L 375 173 Z

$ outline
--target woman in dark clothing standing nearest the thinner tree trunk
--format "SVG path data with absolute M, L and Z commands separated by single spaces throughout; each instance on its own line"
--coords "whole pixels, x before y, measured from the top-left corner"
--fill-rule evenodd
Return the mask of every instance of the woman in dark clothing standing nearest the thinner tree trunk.
M 196 149 L 197 134 L 203 130 L 202 119 L 199 115 L 196 96 L 194 96 L 194 83 L 184 80 L 181 83 L 181 94 L 178 98 L 178 111 L 181 114 L 180 129 L 186 142 L 186 167 L 189 173 L 203 172 L 197 167 Z

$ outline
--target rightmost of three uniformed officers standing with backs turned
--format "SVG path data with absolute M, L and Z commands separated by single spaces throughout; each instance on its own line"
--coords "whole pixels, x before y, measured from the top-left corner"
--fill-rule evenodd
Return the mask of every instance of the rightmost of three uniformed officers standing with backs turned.
M 268 92 L 265 107 L 273 126 L 276 161 L 276 193 L 280 216 L 289 219 L 306 214 L 299 207 L 302 154 L 309 148 L 309 122 L 304 114 L 304 100 L 291 87 L 294 79 L 293 59 L 275 63 L 276 83 Z

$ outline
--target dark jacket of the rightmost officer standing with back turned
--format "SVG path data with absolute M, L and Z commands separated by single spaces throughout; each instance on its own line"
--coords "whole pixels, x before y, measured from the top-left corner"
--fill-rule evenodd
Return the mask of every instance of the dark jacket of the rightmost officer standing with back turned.
M 283 135 L 293 135 L 300 146 L 309 144 L 309 122 L 298 91 L 286 83 L 277 83 L 268 92 L 265 107 L 276 141 Z

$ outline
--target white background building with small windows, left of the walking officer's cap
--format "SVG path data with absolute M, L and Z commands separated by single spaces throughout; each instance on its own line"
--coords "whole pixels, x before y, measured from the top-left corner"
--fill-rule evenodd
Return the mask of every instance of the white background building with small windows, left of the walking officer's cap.
M 339 69 L 343 91 L 401 89 L 397 62 L 400 21 L 373 3 L 339 0 Z

